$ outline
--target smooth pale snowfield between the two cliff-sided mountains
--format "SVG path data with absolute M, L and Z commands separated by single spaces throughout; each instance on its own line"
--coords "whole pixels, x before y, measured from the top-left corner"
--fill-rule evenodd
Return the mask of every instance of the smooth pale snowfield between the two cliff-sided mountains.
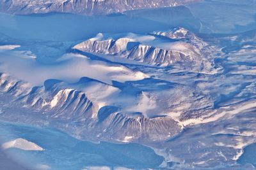
M 147 74 L 118 64 L 109 64 L 104 61 L 90 60 L 83 55 L 68 53 L 59 59 L 56 65 L 38 65 L 35 59 L 24 59 L 20 56 L 26 53 L 13 51 L 0 51 L 0 71 L 4 71 L 14 77 L 28 81 L 31 85 L 42 85 L 47 79 L 75 82 L 79 78 L 87 76 L 104 83 L 116 81 L 142 80 Z M 64 62 L 58 64 L 58 62 Z M 76 67 L 76 69 L 74 69 Z M 78 70 L 78 71 L 77 71 Z M 40 73 L 40 76 L 38 76 Z

